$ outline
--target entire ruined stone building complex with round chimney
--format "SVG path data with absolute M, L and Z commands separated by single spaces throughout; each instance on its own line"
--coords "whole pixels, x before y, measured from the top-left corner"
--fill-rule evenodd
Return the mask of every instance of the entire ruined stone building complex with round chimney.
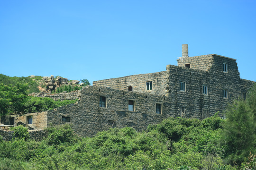
M 80 99 L 74 104 L 12 115 L 1 123 L 38 129 L 72 123 L 78 135 L 93 136 L 110 127 L 145 130 L 168 117 L 205 119 L 218 111 L 224 117 L 227 105 L 245 99 L 254 82 L 240 78 L 236 59 L 216 54 L 188 57 L 187 47 L 183 44 L 178 66 L 167 65 L 166 71 L 94 81 L 68 94 Z

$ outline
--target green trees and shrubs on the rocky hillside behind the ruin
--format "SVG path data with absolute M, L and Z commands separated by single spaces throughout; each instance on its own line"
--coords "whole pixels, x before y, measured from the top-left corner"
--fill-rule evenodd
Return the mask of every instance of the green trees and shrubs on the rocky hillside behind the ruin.
M 71 104 L 77 100 L 54 101 L 50 98 L 28 96 L 29 93 L 38 93 L 42 76 L 10 77 L 0 74 L 0 116 L 8 114 L 26 114 L 51 110 L 63 105 Z M 82 80 L 83 82 L 86 81 Z M 42 84 L 42 83 L 41 83 Z M 90 85 L 86 82 L 83 85 Z M 56 93 L 79 90 L 82 86 L 61 85 L 56 88 Z M 52 93 L 55 93 L 53 91 Z

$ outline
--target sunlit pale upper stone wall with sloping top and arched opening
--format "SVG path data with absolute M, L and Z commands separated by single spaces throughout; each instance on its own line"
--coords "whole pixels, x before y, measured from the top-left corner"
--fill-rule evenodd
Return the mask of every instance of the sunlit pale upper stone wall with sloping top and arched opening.
M 111 78 L 106 80 L 94 81 L 93 86 L 111 87 L 113 89 L 128 90 L 128 86 L 132 86 L 134 92 L 152 93 L 157 95 L 165 94 L 165 85 L 167 85 L 165 77 L 168 76 L 166 71 L 148 74 L 139 74 L 132 76 L 124 76 L 119 78 Z M 152 90 L 146 91 L 146 82 L 152 81 Z

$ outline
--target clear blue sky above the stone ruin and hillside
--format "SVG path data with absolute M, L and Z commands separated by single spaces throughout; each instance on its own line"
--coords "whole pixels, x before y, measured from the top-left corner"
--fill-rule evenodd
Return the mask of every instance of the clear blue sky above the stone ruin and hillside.
M 0 0 L 0 73 L 92 81 L 237 59 L 256 81 L 256 0 Z

